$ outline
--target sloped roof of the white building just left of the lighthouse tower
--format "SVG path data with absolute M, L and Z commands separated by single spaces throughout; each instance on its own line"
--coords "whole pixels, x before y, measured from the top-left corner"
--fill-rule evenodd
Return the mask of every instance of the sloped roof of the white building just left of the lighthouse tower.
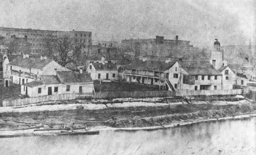
M 187 71 L 190 75 L 222 75 L 220 71 L 216 70 L 210 64 L 210 62 L 182 61 L 179 63 L 181 68 Z

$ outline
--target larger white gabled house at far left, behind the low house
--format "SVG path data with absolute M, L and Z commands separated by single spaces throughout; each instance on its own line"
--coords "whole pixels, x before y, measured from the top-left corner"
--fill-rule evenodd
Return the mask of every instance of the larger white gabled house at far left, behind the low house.
M 54 75 L 57 71 L 70 71 L 46 56 L 29 58 L 29 55 L 18 56 L 5 64 L 3 76 L 5 81 L 14 84 L 25 84 L 35 81 L 39 75 Z

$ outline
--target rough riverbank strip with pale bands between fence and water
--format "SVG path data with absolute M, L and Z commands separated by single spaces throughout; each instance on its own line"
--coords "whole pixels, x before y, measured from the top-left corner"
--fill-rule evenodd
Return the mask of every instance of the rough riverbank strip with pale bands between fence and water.
M 108 103 L 109 101 L 105 100 L 91 102 L 79 100 L 76 103 L 65 104 L 44 103 L 24 107 L 1 107 L 0 127 L 5 131 L 36 126 L 49 130 L 83 127 L 89 130 L 155 130 L 255 115 L 255 101 L 238 97 L 190 102 L 184 100 L 174 102 L 161 97 L 142 99 L 143 101 L 123 99 L 123 103 L 116 103 L 113 100 L 112 102 L 115 103 Z M 104 102 L 104 104 L 95 104 L 95 102 Z M 95 120 L 101 120 L 103 123 L 93 123 Z

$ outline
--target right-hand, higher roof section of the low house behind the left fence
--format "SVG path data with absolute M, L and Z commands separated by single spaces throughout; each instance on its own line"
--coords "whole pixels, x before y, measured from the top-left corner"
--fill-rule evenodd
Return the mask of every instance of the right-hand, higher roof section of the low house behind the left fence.
M 79 74 L 74 71 L 57 71 L 57 76 L 62 84 L 93 82 L 90 75 Z

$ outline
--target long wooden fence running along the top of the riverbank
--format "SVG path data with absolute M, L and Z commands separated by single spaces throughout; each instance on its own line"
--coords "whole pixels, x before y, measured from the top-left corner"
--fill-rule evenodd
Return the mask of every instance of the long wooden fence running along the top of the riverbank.
M 145 97 L 168 97 L 168 96 L 210 96 L 242 94 L 243 89 L 232 90 L 177 90 L 170 91 L 148 91 L 148 92 L 103 92 L 94 94 L 57 94 L 40 97 L 29 97 L 26 99 L 3 100 L 2 107 L 20 106 L 46 101 L 62 101 L 74 99 L 115 99 L 115 98 L 145 98 Z

